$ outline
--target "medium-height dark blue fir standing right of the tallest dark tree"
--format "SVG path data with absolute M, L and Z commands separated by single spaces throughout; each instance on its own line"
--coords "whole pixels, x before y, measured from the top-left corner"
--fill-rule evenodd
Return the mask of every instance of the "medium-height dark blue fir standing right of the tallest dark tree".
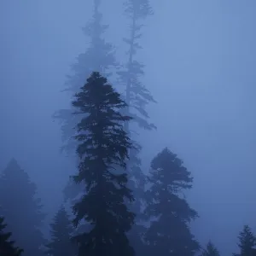
M 145 214 L 154 218 L 144 240 L 150 255 L 193 256 L 200 249 L 189 229 L 197 212 L 189 207 L 184 189 L 192 187 L 191 173 L 168 148 L 152 160 L 148 179 L 148 206 Z

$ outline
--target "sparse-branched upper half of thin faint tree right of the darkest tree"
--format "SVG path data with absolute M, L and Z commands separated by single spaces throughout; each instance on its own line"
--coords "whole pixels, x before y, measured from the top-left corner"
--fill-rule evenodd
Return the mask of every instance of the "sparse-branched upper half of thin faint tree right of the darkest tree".
M 125 43 L 128 44 L 128 61 L 124 70 L 119 72 L 121 82 L 125 84 L 127 114 L 131 115 L 137 125 L 147 130 L 155 128 L 153 124 L 148 123 L 148 113 L 145 109 L 148 102 L 154 102 L 154 98 L 140 81 L 140 77 L 144 74 L 144 65 L 135 60 L 135 56 L 137 50 L 142 49 L 138 40 L 142 38 L 143 20 L 152 14 L 148 0 L 125 0 L 125 15 L 131 21 L 131 31 L 129 38 L 124 38 Z M 126 124 L 126 129 L 129 130 L 128 124 Z

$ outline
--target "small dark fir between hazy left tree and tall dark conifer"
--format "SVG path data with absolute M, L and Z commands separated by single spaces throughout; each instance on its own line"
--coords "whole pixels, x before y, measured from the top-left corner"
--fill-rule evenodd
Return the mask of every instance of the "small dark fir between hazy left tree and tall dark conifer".
M 55 214 L 50 227 L 51 241 L 46 245 L 46 253 L 52 256 L 76 255 L 76 247 L 71 241 L 73 226 L 64 207 Z

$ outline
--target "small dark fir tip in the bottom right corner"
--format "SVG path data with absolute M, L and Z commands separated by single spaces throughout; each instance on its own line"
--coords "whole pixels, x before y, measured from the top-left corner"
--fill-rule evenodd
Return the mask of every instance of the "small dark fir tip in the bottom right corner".
M 238 247 L 240 253 L 233 253 L 234 256 L 255 256 L 256 237 L 248 225 L 244 225 L 238 236 Z

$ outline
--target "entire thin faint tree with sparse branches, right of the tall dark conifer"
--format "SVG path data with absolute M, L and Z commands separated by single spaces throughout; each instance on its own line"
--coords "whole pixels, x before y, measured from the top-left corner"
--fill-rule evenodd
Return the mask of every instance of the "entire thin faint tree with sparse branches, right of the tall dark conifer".
M 148 122 L 149 116 L 146 107 L 149 102 L 155 101 L 141 81 L 141 77 L 144 75 L 144 65 L 142 62 L 137 61 L 136 58 L 137 51 L 143 48 L 139 44 L 142 38 L 143 22 L 148 15 L 153 15 L 153 10 L 148 0 L 125 0 L 124 8 L 125 16 L 130 21 L 130 34 L 127 38 L 124 38 L 124 42 L 128 46 L 127 61 L 118 74 L 120 83 L 125 85 L 124 97 L 127 103 L 125 114 L 133 118 L 135 127 L 138 125 L 143 129 L 152 130 L 156 127 Z M 141 146 L 137 143 L 135 132 L 132 132 L 135 129 L 137 130 L 135 127 L 128 123 L 125 124 L 125 131 L 129 133 L 133 144 L 136 145 L 136 148 L 130 150 L 130 160 L 127 163 L 129 169 L 129 188 L 134 191 L 136 198 L 136 201 L 129 207 L 137 213 L 136 224 L 133 226 L 129 237 L 137 253 L 142 253 L 140 249 L 142 247 L 140 234 L 143 232 L 143 226 L 140 225 L 140 221 L 143 217 L 143 195 L 146 179 L 141 169 L 142 163 L 139 157 Z

